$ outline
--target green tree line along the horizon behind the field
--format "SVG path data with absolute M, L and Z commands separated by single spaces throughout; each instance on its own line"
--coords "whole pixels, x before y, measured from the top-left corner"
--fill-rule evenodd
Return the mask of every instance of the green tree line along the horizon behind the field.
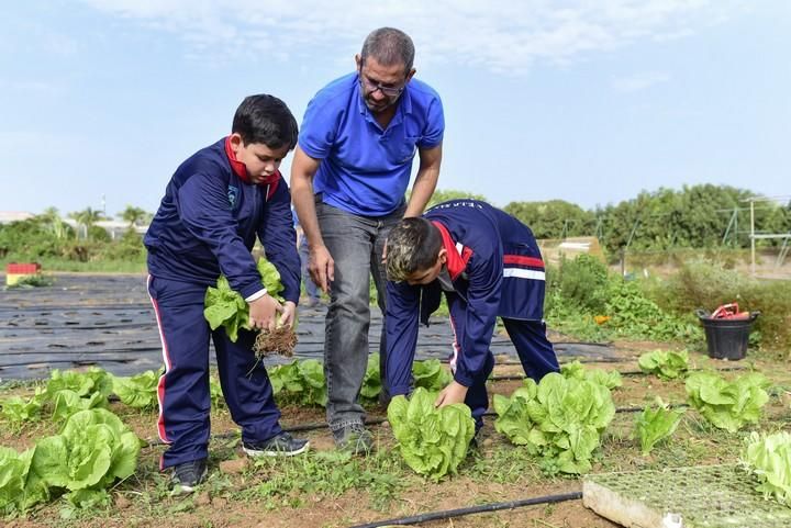
M 660 188 L 643 191 L 632 200 L 584 210 L 564 200 L 511 202 L 503 209 L 527 224 L 536 238 L 597 236 L 609 255 L 624 249 L 666 250 L 672 248 L 746 248 L 750 245 L 749 199 L 756 194 L 728 186 L 684 186 L 680 190 Z M 486 196 L 460 190 L 437 190 L 428 206 L 459 199 Z M 791 202 L 755 202 L 756 233 L 791 233 Z M 75 260 L 122 255 L 144 255 L 140 235 L 132 227 L 145 225 L 151 213 L 132 205 L 119 213 L 129 232 L 110 245 L 97 222 L 107 220 L 100 211 L 87 207 L 70 213 L 87 236 L 78 236 L 54 207 L 29 221 L 0 226 L 0 258 L 64 257 Z M 80 239 L 81 238 L 81 239 Z M 761 240 L 778 246 L 782 239 Z M 112 250 L 108 250 L 110 247 Z

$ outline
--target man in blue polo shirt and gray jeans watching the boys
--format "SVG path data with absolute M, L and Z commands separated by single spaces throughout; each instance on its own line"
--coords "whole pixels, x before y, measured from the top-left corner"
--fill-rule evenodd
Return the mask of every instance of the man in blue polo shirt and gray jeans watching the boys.
M 439 96 L 413 79 L 414 45 L 391 27 L 374 31 L 357 70 L 308 104 L 291 166 L 291 193 L 310 248 L 310 270 L 330 292 L 324 339 L 327 422 L 336 446 L 365 453 L 372 438 L 357 402 L 368 357 L 369 276 L 385 313 L 385 240 L 417 216 L 439 177 L 445 130 Z M 404 199 L 415 153 L 420 167 Z M 385 379 L 385 333 L 380 337 Z M 387 394 L 387 386 L 383 387 Z

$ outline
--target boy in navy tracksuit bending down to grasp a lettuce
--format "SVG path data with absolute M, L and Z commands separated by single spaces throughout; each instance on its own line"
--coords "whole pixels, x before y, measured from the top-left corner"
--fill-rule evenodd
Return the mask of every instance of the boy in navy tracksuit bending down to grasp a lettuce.
M 388 236 L 386 258 L 386 372 L 393 395 L 411 392 L 417 324 L 428 324 L 443 291 L 455 336 L 454 381 L 437 406 L 464 402 L 476 431 L 483 425 L 498 316 L 530 378 L 558 371 L 542 321 L 544 261 L 531 229 L 513 216 L 478 200 L 444 202 L 402 220 Z

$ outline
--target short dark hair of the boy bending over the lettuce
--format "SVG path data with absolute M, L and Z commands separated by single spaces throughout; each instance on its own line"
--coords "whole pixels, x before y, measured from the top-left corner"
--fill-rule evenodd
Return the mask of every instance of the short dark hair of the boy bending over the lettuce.
M 388 280 L 400 282 L 415 271 L 436 263 L 442 249 L 439 229 L 423 217 L 402 220 L 390 231 L 387 238 Z

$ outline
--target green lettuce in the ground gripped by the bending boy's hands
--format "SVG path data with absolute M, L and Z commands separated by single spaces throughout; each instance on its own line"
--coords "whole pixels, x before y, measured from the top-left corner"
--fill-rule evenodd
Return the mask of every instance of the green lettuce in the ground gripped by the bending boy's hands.
M 406 465 L 438 481 L 456 473 L 475 436 L 470 408 L 461 403 L 435 407 L 436 395 L 419 387 L 408 400 L 392 398 L 388 422 Z

